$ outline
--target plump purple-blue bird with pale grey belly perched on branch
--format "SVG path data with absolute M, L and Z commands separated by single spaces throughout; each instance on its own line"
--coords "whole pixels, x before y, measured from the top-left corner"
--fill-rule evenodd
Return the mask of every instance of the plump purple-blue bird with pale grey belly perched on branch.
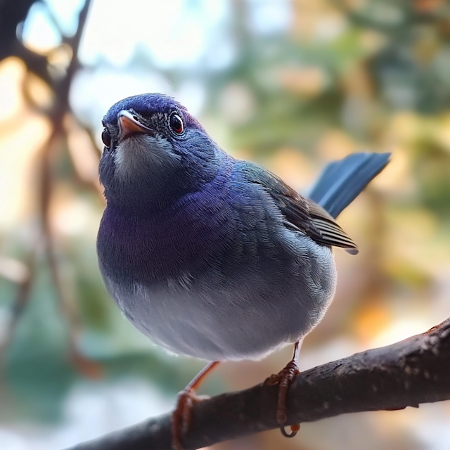
M 172 446 L 183 448 L 195 390 L 221 361 L 262 359 L 294 345 L 267 378 L 286 396 L 301 342 L 336 287 L 333 248 L 359 249 L 335 218 L 377 176 L 389 153 L 331 162 L 308 197 L 275 174 L 222 150 L 181 103 L 150 93 L 103 118 L 99 177 L 106 207 L 97 237 L 105 286 L 155 344 L 209 361 L 179 394 Z

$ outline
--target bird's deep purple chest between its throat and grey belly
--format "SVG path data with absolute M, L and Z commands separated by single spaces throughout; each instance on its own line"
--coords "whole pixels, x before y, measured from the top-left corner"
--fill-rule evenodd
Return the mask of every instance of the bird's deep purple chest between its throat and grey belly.
M 147 217 L 108 207 L 97 241 L 103 274 L 151 284 L 201 271 L 233 238 L 233 214 L 224 200 L 191 198 Z

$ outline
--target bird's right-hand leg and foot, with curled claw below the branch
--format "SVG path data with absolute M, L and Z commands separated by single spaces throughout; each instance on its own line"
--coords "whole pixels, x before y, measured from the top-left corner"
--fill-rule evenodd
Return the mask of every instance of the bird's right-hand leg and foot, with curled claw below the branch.
M 290 433 L 285 430 L 285 423 L 288 420 L 288 412 L 286 410 L 286 398 L 288 397 L 288 390 L 290 383 L 292 383 L 295 375 L 298 375 L 300 371 L 298 370 L 297 361 L 300 354 L 300 349 L 302 348 L 302 340 L 297 340 L 294 345 L 294 355 L 288 364 L 283 368 L 282 371 L 274 373 L 269 378 L 264 381 L 266 385 L 277 385 L 278 384 L 278 404 L 276 408 L 276 421 L 280 425 L 280 430 L 285 437 L 294 437 L 297 435 L 298 430 L 300 430 L 300 424 L 290 425 Z

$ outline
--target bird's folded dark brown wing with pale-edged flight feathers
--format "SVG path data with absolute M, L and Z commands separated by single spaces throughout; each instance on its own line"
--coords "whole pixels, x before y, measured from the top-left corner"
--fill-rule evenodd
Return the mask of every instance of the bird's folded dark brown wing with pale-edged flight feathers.
M 323 207 L 304 198 L 278 176 L 262 167 L 249 162 L 238 162 L 238 165 L 245 179 L 259 184 L 271 195 L 283 214 L 286 227 L 306 234 L 321 245 L 345 248 L 352 255 L 358 253 L 354 241 Z

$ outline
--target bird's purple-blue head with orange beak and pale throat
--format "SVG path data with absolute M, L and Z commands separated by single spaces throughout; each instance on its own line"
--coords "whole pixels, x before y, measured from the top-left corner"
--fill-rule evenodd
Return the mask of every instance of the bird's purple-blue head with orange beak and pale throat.
M 173 98 L 124 98 L 103 118 L 100 181 L 108 204 L 164 207 L 217 173 L 221 150 Z

